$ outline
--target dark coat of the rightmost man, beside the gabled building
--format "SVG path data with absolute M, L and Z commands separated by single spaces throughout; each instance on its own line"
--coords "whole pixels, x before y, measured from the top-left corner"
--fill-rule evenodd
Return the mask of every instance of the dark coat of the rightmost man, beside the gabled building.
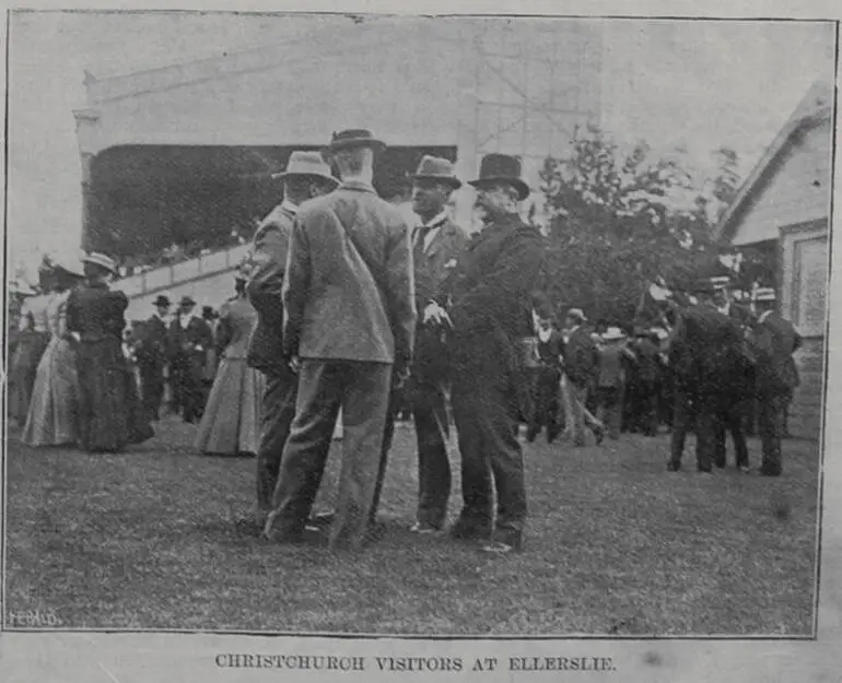
M 802 337 L 792 322 L 771 313 L 753 327 L 749 345 L 757 358 L 755 376 L 761 397 L 785 396 L 798 386 L 793 353 L 800 348 Z

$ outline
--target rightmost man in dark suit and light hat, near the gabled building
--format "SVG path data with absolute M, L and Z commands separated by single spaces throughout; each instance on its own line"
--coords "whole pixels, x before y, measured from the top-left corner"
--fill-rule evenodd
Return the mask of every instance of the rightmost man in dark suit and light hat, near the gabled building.
M 763 448 L 760 473 L 779 476 L 783 471 L 781 438 L 784 411 L 798 384 L 793 354 L 800 348 L 802 337 L 792 322 L 775 311 L 774 290 L 759 290 L 755 305 L 758 318 L 749 334 L 749 346 L 757 358 L 758 431 Z

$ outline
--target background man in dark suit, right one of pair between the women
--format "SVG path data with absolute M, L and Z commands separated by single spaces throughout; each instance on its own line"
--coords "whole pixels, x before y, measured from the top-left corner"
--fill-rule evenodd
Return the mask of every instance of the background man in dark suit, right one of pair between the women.
M 208 352 L 213 348 L 210 326 L 192 315 L 196 302 L 182 297 L 178 315 L 169 322 L 169 367 L 173 370 L 174 411 L 182 411 L 185 422 L 194 423 L 203 410 L 202 377 Z

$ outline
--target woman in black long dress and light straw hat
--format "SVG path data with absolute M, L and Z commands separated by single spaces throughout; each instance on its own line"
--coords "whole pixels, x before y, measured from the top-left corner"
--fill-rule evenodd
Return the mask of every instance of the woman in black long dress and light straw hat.
M 118 452 L 154 435 L 122 353 L 122 292 L 108 288 L 114 261 L 102 254 L 83 259 L 86 281 L 71 292 L 67 327 L 78 334 L 79 444 L 89 452 Z

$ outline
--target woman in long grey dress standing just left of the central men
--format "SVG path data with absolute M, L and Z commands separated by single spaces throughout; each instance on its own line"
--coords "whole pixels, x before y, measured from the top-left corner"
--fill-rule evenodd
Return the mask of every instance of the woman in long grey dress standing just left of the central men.
M 264 376 L 246 364 L 257 311 L 239 273 L 236 292 L 220 309 L 217 346 L 224 351 L 196 435 L 196 448 L 204 454 L 256 454 L 260 443 Z

